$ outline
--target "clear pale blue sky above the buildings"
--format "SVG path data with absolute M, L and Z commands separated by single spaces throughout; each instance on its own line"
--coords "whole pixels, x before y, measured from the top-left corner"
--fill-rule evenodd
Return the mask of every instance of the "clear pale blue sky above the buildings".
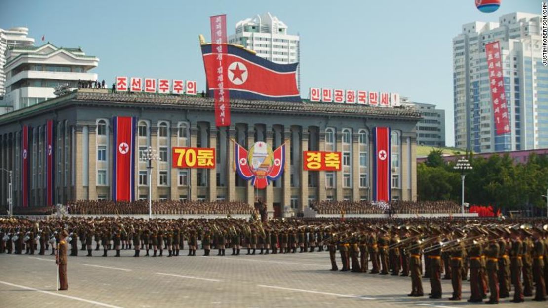
M 99 57 L 99 80 L 116 75 L 198 81 L 205 74 L 198 34 L 209 16 L 237 21 L 270 12 L 301 36 L 301 96 L 309 87 L 398 92 L 446 109 L 453 136 L 452 39 L 471 21 L 502 14 L 540 14 L 540 0 L 503 0 L 492 14 L 474 0 L 163 1 L 0 0 L 0 27 L 26 26 L 36 44 L 82 47 Z

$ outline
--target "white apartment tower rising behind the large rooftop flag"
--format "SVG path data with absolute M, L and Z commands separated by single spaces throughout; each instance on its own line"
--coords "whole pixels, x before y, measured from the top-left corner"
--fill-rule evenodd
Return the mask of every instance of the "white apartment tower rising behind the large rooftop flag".
M 259 57 L 275 63 L 300 60 L 299 35 L 288 34 L 287 25 L 270 13 L 238 21 L 236 34 L 229 36 L 229 43 L 252 49 Z M 300 68 L 297 77 L 300 80 Z

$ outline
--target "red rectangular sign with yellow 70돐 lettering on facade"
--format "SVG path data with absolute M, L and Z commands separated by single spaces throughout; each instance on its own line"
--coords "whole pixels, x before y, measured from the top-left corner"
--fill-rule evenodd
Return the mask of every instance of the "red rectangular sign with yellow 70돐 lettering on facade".
M 215 169 L 214 148 L 173 148 L 174 168 Z

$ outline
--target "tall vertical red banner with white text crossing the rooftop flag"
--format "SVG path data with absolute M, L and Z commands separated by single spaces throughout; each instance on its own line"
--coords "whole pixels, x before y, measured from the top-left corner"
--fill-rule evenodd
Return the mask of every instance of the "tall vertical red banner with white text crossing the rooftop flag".
M 226 61 L 226 15 L 211 16 L 211 43 L 214 57 L 215 82 L 208 87 L 216 88 L 215 96 L 215 125 L 230 125 L 230 92 L 226 85 L 228 81 Z M 208 81 L 209 82 L 209 81 Z

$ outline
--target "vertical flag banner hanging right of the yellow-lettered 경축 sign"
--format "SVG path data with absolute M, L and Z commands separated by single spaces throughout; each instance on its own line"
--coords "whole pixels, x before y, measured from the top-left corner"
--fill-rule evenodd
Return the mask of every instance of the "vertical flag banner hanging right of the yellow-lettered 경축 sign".
M 373 127 L 373 201 L 391 199 L 390 127 Z

